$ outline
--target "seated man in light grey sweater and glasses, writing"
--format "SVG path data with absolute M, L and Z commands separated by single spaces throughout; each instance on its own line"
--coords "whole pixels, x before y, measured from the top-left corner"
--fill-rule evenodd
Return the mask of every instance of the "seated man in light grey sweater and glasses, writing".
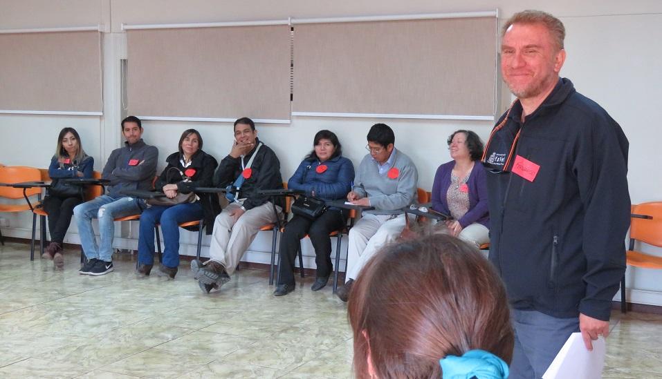
M 403 207 L 416 200 L 419 172 L 410 157 L 394 148 L 395 135 L 385 124 L 374 124 L 367 135 L 369 154 L 363 157 L 347 200 L 372 206 L 349 231 L 347 273 L 338 297 L 346 302 L 351 284 L 383 244 L 395 240 L 405 227 Z

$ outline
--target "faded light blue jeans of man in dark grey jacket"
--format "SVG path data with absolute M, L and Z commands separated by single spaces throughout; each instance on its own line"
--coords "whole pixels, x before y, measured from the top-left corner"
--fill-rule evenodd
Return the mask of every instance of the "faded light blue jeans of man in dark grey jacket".
M 113 260 L 113 237 L 115 237 L 115 219 L 129 215 L 138 215 L 144 208 L 144 202 L 135 197 L 114 198 L 101 195 L 94 200 L 84 202 L 73 208 L 76 216 L 80 244 L 87 259 L 97 258 L 106 262 Z M 99 219 L 101 244 L 97 245 L 92 229 L 92 219 Z

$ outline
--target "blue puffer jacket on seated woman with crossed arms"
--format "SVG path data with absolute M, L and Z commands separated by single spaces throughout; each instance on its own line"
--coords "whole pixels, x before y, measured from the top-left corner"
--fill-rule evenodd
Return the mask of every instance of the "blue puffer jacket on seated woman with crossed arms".
M 318 166 L 327 166 L 327 170 L 318 173 Z M 354 180 L 354 165 L 345 157 L 328 159 L 320 164 L 317 159 L 304 159 L 287 182 L 288 189 L 305 191 L 306 195 L 315 192 L 315 197 L 323 200 L 344 199 L 351 191 Z

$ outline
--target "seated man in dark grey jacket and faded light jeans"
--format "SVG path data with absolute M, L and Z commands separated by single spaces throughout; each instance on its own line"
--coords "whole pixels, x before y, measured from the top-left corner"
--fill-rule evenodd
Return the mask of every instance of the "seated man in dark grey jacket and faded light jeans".
M 79 273 L 104 275 L 113 271 L 113 237 L 116 217 L 142 213 L 145 204 L 135 197 L 125 197 L 120 191 L 150 190 L 156 175 L 158 149 L 142 142 L 142 123 L 135 116 L 122 120 L 125 146 L 116 148 L 108 157 L 102 177 L 110 180 L 107 193 L 73 208 L 80 244 L 88 259 Z M 99 219 L 101 243 L 97 244 L 92 219 Z

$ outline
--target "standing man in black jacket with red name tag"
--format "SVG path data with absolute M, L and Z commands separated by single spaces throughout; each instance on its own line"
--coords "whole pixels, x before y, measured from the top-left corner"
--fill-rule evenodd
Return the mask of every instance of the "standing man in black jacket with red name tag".
M 540 378 L 571 333 L 587 349 L 609 333 L 625 272 L 628 142 L 594 101 L 560 79 L 564 26 L 539 11 L 511 17 L 502 75 L 517 100 L 486 146 L 490 260 L 511 302 L 510 378 Z

